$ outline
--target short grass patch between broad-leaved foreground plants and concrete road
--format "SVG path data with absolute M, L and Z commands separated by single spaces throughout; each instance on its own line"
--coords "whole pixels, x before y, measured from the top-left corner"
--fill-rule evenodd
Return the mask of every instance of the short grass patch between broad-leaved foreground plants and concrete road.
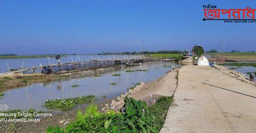
M 153 113 L 156 118 L 156 124 L 158 126 L 158 129 L 161 129 L 163 127 L 169 106 L 172 102 L 172 96 L 162 96 L 158 98 L 158 101 L 155 105 L 149 107 L 149 111 Z

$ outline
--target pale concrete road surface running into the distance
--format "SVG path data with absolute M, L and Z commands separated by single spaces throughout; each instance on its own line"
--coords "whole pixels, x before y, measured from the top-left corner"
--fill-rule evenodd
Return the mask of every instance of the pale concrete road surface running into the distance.
M 185 65 L 161 132 L 256 132 L 256 86 L 222 66 Z

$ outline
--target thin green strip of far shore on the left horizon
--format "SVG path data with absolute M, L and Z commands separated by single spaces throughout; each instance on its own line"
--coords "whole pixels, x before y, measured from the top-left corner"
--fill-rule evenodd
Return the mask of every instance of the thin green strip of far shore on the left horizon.
M 56 54 L 57 55 L 57 54 Z M 1 55 L 0 59 L 27 59 L 27 58 L 44 58 L 44 57 L 55 57 L 56 55 Z M 68 56 L 68 55 L 60 55 Z

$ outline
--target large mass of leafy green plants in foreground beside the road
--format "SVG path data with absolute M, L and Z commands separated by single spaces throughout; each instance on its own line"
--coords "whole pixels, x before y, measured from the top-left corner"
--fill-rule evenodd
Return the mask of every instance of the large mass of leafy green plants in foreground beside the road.
M 101 113 L 97 106 L 90 105 L 85 113 L 78 110 L 75 121 L 65 130 L 49 126 L 47 132 L 159 132 L 172 100 L 172 97 L 159 97 L 155 105 L 148 107 L 143 101 L 125 97 L 120 113 Z

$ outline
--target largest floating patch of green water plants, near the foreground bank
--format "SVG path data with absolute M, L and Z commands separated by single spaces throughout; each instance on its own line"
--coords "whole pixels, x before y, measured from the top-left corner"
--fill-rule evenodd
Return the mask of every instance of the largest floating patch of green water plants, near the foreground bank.
M 67 111 L 73 109 L 78 104 L 88 104 L 95 101 L 95 96 L 87 95 L 76 98 L 65 98 L 65 99 L 49 99 L 46 100 L 45 106 L 50 109 Z

